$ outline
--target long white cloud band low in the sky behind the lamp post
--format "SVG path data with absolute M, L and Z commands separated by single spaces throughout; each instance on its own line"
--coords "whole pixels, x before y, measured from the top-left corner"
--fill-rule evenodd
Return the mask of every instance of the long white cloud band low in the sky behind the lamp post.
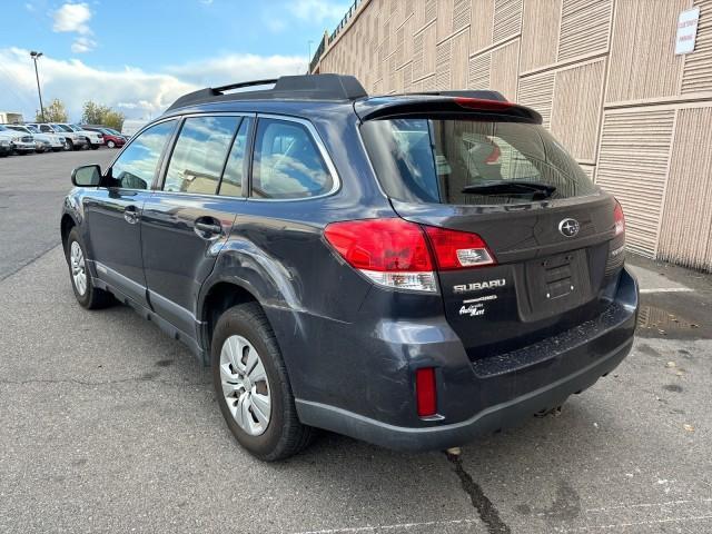
M 37 87 L 29 50 L 0 48 L 0 109 L 34 117 Z M 306 71 L 306 57 L 227 55 L 202 62 L 190 62 L 147 72 L 134 67 L 102 70 L 85 62 L 57 60 L 43 56 L 38 63 L 46 103 L 59 98 L 72 120 L 79 120 L 87 100 L 117 108 L 129 118 L 161 113 L 186 92 L 234 81 L 278 78 Z

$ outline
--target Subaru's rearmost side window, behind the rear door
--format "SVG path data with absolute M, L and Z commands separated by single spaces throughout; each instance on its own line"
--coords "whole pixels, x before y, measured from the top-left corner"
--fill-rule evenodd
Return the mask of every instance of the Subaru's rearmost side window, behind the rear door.
M 334 179 L 309 130 L 289 120 L 259 119 L 253 196 L 308 198 L 328 192 Z

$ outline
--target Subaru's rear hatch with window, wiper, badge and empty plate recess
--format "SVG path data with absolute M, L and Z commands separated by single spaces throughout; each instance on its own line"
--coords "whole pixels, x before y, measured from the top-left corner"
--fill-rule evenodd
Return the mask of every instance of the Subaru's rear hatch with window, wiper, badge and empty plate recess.
M 615 199 L 594 186 L 534 111 L 466 98 L 427 102 L 392 106 L 395 113 L 364 105 L 357 112 L 395 211 L 484 241 L 464 251 L 469 266 L 438 267 L 447 320 L 471 358 L 601 314 L 624 257 Z

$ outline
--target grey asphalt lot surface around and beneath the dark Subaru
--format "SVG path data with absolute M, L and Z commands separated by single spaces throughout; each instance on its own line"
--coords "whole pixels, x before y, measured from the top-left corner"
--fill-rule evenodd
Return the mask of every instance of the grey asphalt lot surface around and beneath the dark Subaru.
M 60 201 L 113 154 L 0 159 L 0 532 L 712 532 L 710 277 L 636 260 L 615 374 L 458 461 L 325 433 L 263 464 L 179 343 L 75 301 Z

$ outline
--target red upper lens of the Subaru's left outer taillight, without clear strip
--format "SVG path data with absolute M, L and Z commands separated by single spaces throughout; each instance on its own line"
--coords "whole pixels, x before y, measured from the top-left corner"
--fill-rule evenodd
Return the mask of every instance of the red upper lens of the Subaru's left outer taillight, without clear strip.
M 324 236 L 356 269 L 431 271 L 433 263 L 421 227 L 399 218 L 332 222 Z

